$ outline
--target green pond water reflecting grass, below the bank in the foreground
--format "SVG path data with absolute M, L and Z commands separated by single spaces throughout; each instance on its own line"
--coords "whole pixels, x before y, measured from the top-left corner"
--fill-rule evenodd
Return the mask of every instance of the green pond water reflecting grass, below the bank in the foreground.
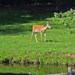
M 59 70 L 58 70 L 59 69 Z M 34 74 L 46 75 L 55 73 L 67 73 L 66 66 L 53 66 L 53 65 L 0 65 L 0 73 L 15 73 L 15 74 Z

